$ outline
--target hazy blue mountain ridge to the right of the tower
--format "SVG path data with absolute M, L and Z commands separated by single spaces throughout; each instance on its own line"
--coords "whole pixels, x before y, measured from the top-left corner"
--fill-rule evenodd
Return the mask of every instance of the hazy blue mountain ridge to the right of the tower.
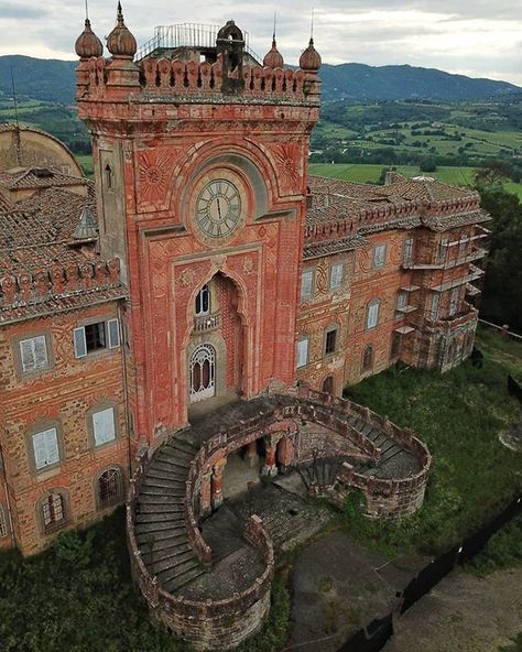
M 325 64 L 320 68 L 325 99 L 358 102 L 394 99 L 442 99 L 464 101 L 521 94 L 507 82 L 474 79 L 435 68 Z

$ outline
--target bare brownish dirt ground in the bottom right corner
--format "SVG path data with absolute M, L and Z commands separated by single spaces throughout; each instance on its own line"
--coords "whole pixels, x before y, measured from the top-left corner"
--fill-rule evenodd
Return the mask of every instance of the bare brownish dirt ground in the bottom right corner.
M 461 570 L 403 616 L 384 652 L 497 652 L 522 631 L 522 568 L 477 579 Z

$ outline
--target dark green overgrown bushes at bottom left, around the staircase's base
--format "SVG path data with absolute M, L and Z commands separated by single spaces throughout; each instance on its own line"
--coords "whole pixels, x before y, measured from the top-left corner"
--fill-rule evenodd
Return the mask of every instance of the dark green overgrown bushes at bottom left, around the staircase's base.
M 122 510 L 85 531 L 58 536 L 46 552 L 23 559 L 0 555 L 2 652 L 188 652 L 154 626 L 132 586 Z M 287 575 L 273 583 L 264 628 L 239 652 L 275 652 L 286 639 Z

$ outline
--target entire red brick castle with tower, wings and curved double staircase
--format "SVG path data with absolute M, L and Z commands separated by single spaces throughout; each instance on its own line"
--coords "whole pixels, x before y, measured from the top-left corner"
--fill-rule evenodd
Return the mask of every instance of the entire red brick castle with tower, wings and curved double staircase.
M 0 544 L 33 554 L 127 497 L 152 612 L 222 649 L 264 618 L 274 563 L 252 515 L 259 576 L 216 600 L 194 588 L 227 459 L 265 476 L 337 459 L 313 492 L 360 489 L 370 518 L 417 509 L 426 447 L 342 389 L 469 356 L 488 215 L 429 177 L 308 177 L 312 40 L 296 70 L 275 37 L 260 62 L 233 21 L 157 29 L 138 52 L 120 7 L 107 47 L 87 20 L 95 188 L 66 152 L 67 169 L 0 173 Z

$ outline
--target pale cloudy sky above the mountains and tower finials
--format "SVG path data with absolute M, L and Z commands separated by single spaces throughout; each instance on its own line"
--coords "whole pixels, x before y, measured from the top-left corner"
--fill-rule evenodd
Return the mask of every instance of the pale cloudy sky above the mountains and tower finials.
M 0 54 L 75 58 L 84 2 L 0 0 Z M 101 39 L 115 24 L 116 4 L 89 0 L 93 28 Z M 138 43 L 148 41 L 155 25 L 222 24 L 232 18 L 263 55 L 276 10 L 280 51 L 287 63 L 296 63 L 309 37 L 313 6 L 324 62 L 411 64 L 522 86 L 522 13 L 512 0 L 123 0 L 123 12 Z

